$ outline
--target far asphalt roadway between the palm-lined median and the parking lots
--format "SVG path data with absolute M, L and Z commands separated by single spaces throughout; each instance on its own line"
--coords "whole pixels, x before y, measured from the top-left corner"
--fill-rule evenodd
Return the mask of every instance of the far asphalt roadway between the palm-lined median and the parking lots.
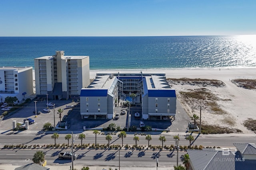
M 75 137 L 76 134 L 74 134 Z M 80 144 L 81 141 L 78 139 L 78 135 L 75 138 L 74 145 Z M 4 135 L 0 134 L 0 147 L 4 145 L 44 145 L 44 144 L 54 144 L 54 139 L 51 138 L 52 134 L 41 134 L 41 135 L 32 135 L 32 134 L 16 134 L 16 135 Z M 68 143 L 65 140 L 66 134 L 59 134 L 59 138 L 56 140 L 56 143 L 63 144 Z M 162 145 L 162 142 L 159 141 L 160 135 L 152 135 L 152 141 L 150 141 L 150 145 Z M 175 145 L 175 141 L 173 139 L 173 135 L 164 135 L 166 137 L 166 142 L 164 145 Z M 148 141 L 145 139 L 145 135 L 138 135 L 139 141 L 138 145 L 148 145 Z M 134 135 L 127 135 L 124 139 L 123 144 L 126 145 L 135 145 L 135 141 L 133 140 Z M 230 137 L 230 136 L 208 136 L 208 135 L 199 135 L 198 137 L 194 135 L 194 139 L 196 139 L 193 145 L 202 145 L 204 147 L 234 147 L 233 143 L 256 143 L 256 138 L 251 137 Z M 86 134 L 86 139 L 82 141 L 83 143 L 95 143 L 95 135 L 94 134 Z M 71 143 L 71 140 L 70 140 Z M 97 135 L 97 143 L 99 144 L 107 144 L 106 135 Z M 122 145 L 122 139 L 118 138 L 118 135 L 112 135 L 111 145 Z M 184 135 L 180 135 L 179 145 L 189 145 L 189 141 L 185 139 Z

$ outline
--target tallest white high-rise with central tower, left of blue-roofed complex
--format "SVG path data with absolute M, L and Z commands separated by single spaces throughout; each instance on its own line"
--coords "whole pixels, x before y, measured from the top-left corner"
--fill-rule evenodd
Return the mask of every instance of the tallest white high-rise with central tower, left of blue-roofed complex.
M 53 56 L 34 59 L 36 95 L 49 99 L 80 98 L 81 88 L 90 84 L 89 56 Z

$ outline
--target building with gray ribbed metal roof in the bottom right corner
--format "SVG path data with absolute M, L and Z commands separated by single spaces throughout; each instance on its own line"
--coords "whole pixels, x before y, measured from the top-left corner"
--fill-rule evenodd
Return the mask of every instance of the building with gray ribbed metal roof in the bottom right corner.
M 187 152 L 190 170 L 252 170 L 256 167 L 256 145 L 234 143 L 236 148 L 202 149 Z

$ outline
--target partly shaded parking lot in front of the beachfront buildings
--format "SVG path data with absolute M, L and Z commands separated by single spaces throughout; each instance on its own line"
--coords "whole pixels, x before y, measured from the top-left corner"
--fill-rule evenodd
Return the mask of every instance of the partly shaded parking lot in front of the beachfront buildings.
M 55 104 L 55 111 L 53 107 L 49 107 L 51 111 L 49 113 L 43 111 L 46 109 L 47 101 L 45 99 L 38 100 L 34 102 L 32 100 L 30 103 L 24 105 L 22 108 L 17 109 L 14 114 L 7 117 L 4 121 L 0 123 L 1 130 L 10 130 L 12 129 L 12 121 L 16 120 L 16 122 L 23 122 L 25 118 L 32 118 L 35 120 L 34 124 L 29 125 L 29 130 L 33 131 L 41 131 L 44 123 L 50 122 L 54 125 L 54 112 L 55 112 L 55 125 L 60 121 L 58 109 L 63 109 L 62 118 L 68 122 L 68 131 L 79 131 L 82 132 L 83 127 L 86 128 L 94 128 L 94 127 L 108 127 L 110 123 L 115 123 L 117 127 L 125 128 L 127 127 L 128 121 L 128 111 L 126 114 L 122 115 L 121 112 L 123 109 L 127 109 L 127 107 L 116 107 L 115 113 L 120 113 L 119 119 L 106 119 L 105 117 L 98 117 L 94 119 L 93 117 L 89 119 L 82 119 L 80 115 L 80 103 L 74 102 L 72 99 L 69 100 L 48 100 L 48 102 L 52 102 Z M 41 111 L 40 115 L 35 117 L 33 111 L 35 110 L 35 103 L 37 110 Z M 74 105 L 75 107 L 66 109 L 66 105 Z M 138 111 L 140 113 L 140 118 L 135 118 L 134 113 Z M 167 129 L 170 127 L 170 131 L 186 131 L 187 123 L 190 121 L 190 118 L 182 108 L 179 102 L 177 102 L 177 115 L 175 120 L 142 120 L 141 119 L 141 108 L 140 107 L 130 107 L 131 114 L 131 126 L 136 125 L 139 127 L 140 121 L 144 121 L 145 125 L 149 125 L 152 128 L 156 129 Z

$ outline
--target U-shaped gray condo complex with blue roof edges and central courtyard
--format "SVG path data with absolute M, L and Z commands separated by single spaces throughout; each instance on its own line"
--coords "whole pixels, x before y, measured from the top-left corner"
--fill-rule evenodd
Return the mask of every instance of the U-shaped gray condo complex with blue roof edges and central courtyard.
M 130 94 L 136 94 L 131 100 Z M 83 116 L 115 115 L 115 102 L 126 102 L 140 107 L 140 118 L 151 116 L 174 116 L 176 114 L 176 92 L 166 82 L 164 73 L 97 73 L 94 81 L 82 88 L 80 93 L 80 114 Z

